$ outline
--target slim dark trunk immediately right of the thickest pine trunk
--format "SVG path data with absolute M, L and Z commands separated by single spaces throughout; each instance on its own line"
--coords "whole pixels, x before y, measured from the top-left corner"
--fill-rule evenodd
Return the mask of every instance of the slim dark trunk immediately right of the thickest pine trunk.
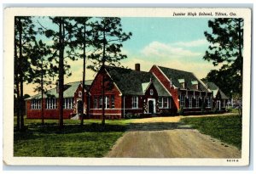
M 86 41 L 85 41 L 85 32 L 86 32 L 86 25 L 85 25 L 85 21 L 84 21 L 84 43 L 83 43 L 83 86 L 82 86 L 82 102 L 83 102 L 83 108 L 82 108 L 82 117 L 81 117 L 81 122 L 80 125 L 83 126 L 84 125 L 84 91 L 85 91 L 85 59 L 86 59 L 86 55 L 85 55 L 85 47 L 86 47 Z M 88 103 L 88 102 L 87 102 Z M 87 104 L 88 107 L 88 104 Z M 86 113 L 87 114 L 87 113 Z

